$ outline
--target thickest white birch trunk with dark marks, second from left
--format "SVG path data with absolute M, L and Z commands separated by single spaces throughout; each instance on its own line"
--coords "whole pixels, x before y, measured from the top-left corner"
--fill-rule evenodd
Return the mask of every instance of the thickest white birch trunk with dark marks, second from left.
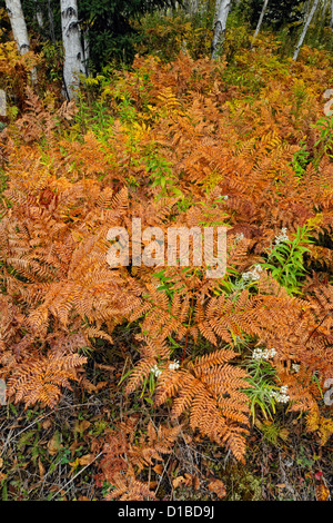
M 62 43 L 64 49 L 63 83 L 69 100 L 77 97 L 79 75 L 84 75 L 84 56 L 78 20 L 77 0 L 60 0 Z

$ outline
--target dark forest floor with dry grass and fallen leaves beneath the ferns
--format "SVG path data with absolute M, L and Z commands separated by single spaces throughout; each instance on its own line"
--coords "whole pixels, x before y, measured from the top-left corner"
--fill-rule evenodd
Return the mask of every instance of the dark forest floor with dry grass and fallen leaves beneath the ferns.
M 97 477 L 105 435 L 124 415 L 137 416 L 142 431 L 148 420 L 168 418 L 144 398 L 124 396 L 113 379 L 121 374 L 120 363 L 93 363 L 91 394 L 85 383 L 84 391 L 67 391 L 54 409 L 0 407 L 2 501 L 104 499 L 107 485 Z M 332 443 L 319 446 L 303 416 L 283 412 L 273 422 L 255 418 L 245 465 L 186 432 L 162 464 L 144 471 L 144 480 L 162 501 L 330 501 L 332 463 Z

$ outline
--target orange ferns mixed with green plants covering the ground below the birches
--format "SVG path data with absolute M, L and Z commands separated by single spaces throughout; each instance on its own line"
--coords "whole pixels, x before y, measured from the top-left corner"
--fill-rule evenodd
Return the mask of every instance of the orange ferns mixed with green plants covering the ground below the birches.
M 3 500 L 331 499 L 333 62 L 278 51 L 137 56 L 60 103 L 2 46 Z M 226 227 L 225 275 L 111 267 L 138 218 Z

